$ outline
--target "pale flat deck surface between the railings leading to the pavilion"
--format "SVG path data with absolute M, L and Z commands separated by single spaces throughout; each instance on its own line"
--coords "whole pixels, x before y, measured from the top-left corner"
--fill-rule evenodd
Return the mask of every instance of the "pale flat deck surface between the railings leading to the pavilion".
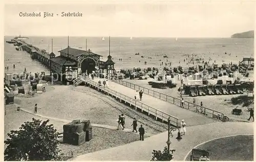
M 94 78 L 95 82 L 99 81 L 99 78 Z M 121 84 L 109 81 L 109 88 L 126 95 L 128 97 L 134 98 L 136 90 L 123 86 Z M 152 106 L 156 109 L 159 109 L 165 113 L 173 115 L 174 117 L 179 118 L 180 120 L 184 119 L 187 126 L 193 125 L 202 125 L 208 123 L 218 122 L 212 118 L 206 117 L 205 115 L 193 112 L 184 108 L 181 108 L 177 105 L 165 102 L 163 100 L 157 99 L 155 97 L 143 94 L 142 101 L 146 105 Z

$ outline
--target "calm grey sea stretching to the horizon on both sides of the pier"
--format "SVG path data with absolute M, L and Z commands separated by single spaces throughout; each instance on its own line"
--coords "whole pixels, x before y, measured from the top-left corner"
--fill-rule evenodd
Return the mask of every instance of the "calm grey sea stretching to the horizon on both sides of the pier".
M 9 67 L 8 73 L 37 73 L 49 70 L 32 60 L 26 51 L 16 51 L 13 44 L 6 41 L 13 39 L 11 36 L 4 37 L 4 64 Z M 52 44 L 53 40 L 53 46 Z M 87 45 L 86 45 L 87 40 Z M 109 37 L 29 37 L 26 42 L 33 44 L 39 49 L 53 52 L 56 56 L 58 51 L 71 48 L 80 50 L 90 49 L 93 53 L 101 55 L 100 60 L 106 61 L 109 55 Z M 135 55 L 139 53 L 139 55 Z M 226 54 L 225 54 L 226 53 Z M 254 57 L 253 38 L 150 38 L 150 37 L 111 37 L 110 54 L 115 62 L 115 69 L 131 69 L 133 67 L 160 68 L 160 63 L 172 62 L 171 67 L 188 67 L 187 55 L 194 54 L 194 58 L 209 61 L 209 58 L 221 65 L 222 63 L 238 63 L 243 57 Z M 163 56 L 167 57 L 163 57 Z M 190 57 L 191 58 L 191 57 Z M 122 60 L 120 60 L 122 59 Z M 184 62 L 184 59 L 188 59 Z M 147 62 L 146 65 L 144 62 Z M 15 69 L 13 68 L 15 64 Z

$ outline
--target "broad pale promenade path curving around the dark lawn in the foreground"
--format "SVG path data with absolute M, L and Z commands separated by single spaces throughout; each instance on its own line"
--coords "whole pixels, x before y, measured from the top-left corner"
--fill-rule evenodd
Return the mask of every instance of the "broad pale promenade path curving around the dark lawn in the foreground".
M 173 132 L 170 149 L 175 149 L 174 160 L 184 160 L 187 153 L 197 145 L 218 137 L 239 134 L 253 134 L 253 123 L 226 122 L 210 123 L 187 127 L 185 136 L 178 142 L 175 137 L 177 131 Z M 144 141 L 136 141 L 130 144 L 109 148 L 93 153 L 88 153 L 75 157 L 72 160 L 144 160 L 148 161 L 152 157 L 152 150 L 163 150 L 166 146 L 167 132 L 163 132 L 148 138 Z

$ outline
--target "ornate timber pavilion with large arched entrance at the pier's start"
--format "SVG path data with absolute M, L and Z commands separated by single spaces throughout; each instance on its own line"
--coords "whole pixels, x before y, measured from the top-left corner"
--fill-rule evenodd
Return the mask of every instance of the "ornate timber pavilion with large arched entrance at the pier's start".
M 101 61 L 101 55 L 89 50 L 80 50 L 69 47 L 58 51 L 60 56 L 50 59 L 51 73 L 58 74 L 62 80 L 73 80 L 83 73 L 91 74 L 93 71 L 113 76 L 114 64 L 109 54 L 108 60 Z

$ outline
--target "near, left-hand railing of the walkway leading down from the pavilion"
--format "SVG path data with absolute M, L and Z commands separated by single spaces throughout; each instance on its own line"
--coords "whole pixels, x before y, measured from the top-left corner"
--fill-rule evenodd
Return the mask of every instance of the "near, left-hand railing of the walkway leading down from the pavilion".
M 172 125 L 176 126 L 176 127 L 180 127 L 180 122 L 178 118 L 174 117 L 173 115 L 170 115 L 168 113 L 165 113 L 161 110 L 158 110 L 154 107 L 151 107 L 149 105 L 146 105 L 138 100 L 135 100 L 131 97 L 125 96 L 123 94 L 120 94 L 119 92 L 106 87 L 106 86 L 99 86 L 98 83 L 94 82 L 91 79 L 88 79 L 86 77 L 81 77 L 81 80 L 83 80 L 84 82 L 88 83 L 90 86 L 94 86 L 96 87 L 98 90 L 104 91 L 106 94 L 115 96 L 116 99 L 118 99 L 120 102 L 124 102 L 124 103 L 129 103 L 130 106 L 134 106 L 135 109 L 140 109 L 141 112 L 146 113 L 148 116 L 153 115 L 155 117 L 155 120 L 160 120 L 161 122 L 167 122 L 168 118 L 170 118 L 170 122 Z

